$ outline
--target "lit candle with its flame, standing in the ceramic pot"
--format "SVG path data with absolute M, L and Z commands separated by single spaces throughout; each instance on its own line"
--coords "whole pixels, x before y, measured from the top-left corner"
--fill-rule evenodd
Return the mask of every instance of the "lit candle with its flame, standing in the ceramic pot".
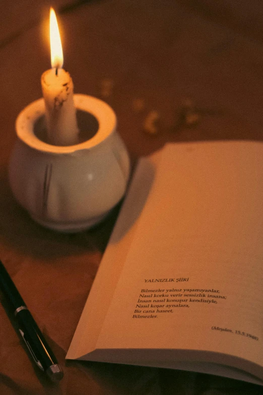
M 74 145 L 79 142 L 74 86 L 68 72 L 62 69 L 63 53 L 54 10 L 50 9 L 51 69 L 41 76 L 45 101 L 47 142 L 52 145 Z

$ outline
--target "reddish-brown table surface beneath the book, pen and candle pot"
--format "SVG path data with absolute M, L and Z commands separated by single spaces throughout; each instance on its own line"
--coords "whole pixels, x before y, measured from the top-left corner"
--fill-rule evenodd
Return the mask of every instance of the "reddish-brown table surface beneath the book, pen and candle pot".
M 69 2 L 52 2 L 62 26 L 64 68 L 76 93 L 102 98 L 114 108 L 132 160 L 167 141 L 262 139 L 260 0 Z M 34 223 L 11 194 L 7 168 L 15 119 L 41 97 L 40 75 L 50 67 L 49 5 L 45 0 L 0 4 L 0 257 L 65 375 L 53 385 L 36 371 L 0 308 L 0 393 L 262 393 L 255 385 L 204 374 L 65 362 L 117 209 L 93 230 L 63 235 Z M 149 127 L 151 117 L 156 122 Z

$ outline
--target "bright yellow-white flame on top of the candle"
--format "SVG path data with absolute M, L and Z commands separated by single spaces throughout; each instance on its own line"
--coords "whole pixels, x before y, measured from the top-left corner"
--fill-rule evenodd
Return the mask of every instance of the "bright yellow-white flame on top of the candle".
M 63 65 L 63 51 L 61 45 L 61 39 L 59 35 L 56 14 L 52 8 L 50 8 L 49 17 L 49 37 L 50 37 L 50 52 L 51 52 L 51 66 L 52 68 L 58 69 Z

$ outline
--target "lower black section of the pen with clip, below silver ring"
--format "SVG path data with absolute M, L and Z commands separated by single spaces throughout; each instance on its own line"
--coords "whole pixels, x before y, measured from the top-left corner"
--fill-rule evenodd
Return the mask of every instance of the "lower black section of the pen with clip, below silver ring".
M 27 309 L 19 311 L 16 314 L 16 320 L 20 334 L 38 367 L 46 371 L 51 365 L 57 364 L 53 352 L 48 346 L 30 311 Z

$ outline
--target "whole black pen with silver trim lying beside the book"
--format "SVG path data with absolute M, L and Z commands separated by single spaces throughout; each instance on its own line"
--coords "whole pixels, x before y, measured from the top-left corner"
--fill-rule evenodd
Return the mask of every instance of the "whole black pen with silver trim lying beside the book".
M 0 261 L 0 290 L 14 312 L 18 330 L 27 349 L 40 370 L 45 372 L 52 381 L 63 377 L 63 371 L 43 334 L 28 310 L 5 266 Z

